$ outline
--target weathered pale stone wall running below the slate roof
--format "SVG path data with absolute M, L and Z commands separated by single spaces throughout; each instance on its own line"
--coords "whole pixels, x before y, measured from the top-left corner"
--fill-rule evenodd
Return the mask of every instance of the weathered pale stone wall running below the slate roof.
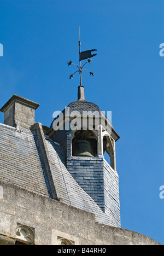
M 136 232 L 97 223 L 92 213 L 1 182 L 0 245 L 15 244 L 20 224 L 34 231 L 35 245 L 56 245 L 58 237 L 75 245 L 159 245 Z

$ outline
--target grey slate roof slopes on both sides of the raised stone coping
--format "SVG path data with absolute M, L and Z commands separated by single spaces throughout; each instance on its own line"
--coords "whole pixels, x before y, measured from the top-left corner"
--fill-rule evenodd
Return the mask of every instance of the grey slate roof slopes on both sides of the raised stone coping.
M 117 226 L 112 212 L 104 213 L 68 172 L 60 146 L 45 138 L 60 201 L 94 213 L 96 222 Z M 49 197 L 34 131 L 0 124 L 0 181 Z

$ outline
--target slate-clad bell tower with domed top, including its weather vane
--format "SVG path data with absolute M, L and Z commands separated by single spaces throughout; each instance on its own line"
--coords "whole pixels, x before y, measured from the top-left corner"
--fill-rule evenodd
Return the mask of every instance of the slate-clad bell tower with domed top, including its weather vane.
M 113 225 L 120 227 L 119 176 L 116 171 L 115 142 L 120 138 L 109 118 L 92 102 L 85 101 L 81 83 L 86 63 L 94 50 L 81 52 L 79 33 L 79 67 L 70 75 L 79 72 L 78 101 L 71 102 L 52 122 L 47 135 L 60 144 L 63 159 L 69 173 L 83 190 L 97 203 Z M 81 60 L 87 60 L 81 66 Z M 109 155 L 106 161 L 104 153 Z

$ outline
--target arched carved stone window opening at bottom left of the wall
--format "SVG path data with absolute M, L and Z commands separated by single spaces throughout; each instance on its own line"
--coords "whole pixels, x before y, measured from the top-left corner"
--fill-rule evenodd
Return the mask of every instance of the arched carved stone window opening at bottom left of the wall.
M 34 245 L 34 232 L 26 225 L 18 225 L 16 228 L 15 245 Z

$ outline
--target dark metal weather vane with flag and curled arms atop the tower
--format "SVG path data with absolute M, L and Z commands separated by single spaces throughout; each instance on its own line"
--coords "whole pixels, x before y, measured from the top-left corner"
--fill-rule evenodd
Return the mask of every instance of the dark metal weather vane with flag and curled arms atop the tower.
M 90 73 L 90 75 L 93 75 L 92 72 L 90 72 L 89 70 L 83 68 L 85 66 L 86 63 L 91 63 L 91 60 L 90 60 L 90 57 L 93 57 L 97 54 L 91 54 L 92 51 L 97 51 L 96 49 L 92 49 L 92 50 L 87 50 L 87 51 L 81 51 L 80 50 L 80 46 L 81 46 L 81 42 L 80 42 L 80 27 L 79 27 L 79 67 L 77 65 L 75 65 L 74 63 L 72 63 L 72 61 L 68 61 L 68 66 L 69 65 L 74 65 L 76 67 L 78 67 L 78 70 L 75 71 L 73 74 L 71 74 L 69 76 L 69 79 L 73 78 L 74 74 L 79 72 L 80 74 L 80 86 L 82 86 L 82 83 L 81 83 L 81 73 L 83 70 L 87 71 Z M 87 60 L 84 65 L 81 67 L 81 60 Z

